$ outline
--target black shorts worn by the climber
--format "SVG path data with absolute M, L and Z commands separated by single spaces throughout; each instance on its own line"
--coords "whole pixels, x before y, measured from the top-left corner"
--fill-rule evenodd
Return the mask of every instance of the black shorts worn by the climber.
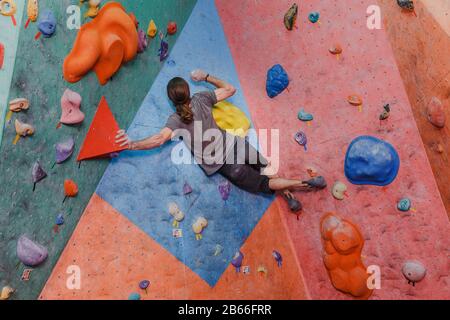
M 263 175 L 261 170 L 267 167 L 267 161 L 257 152 L 247 141 L 245 159 L 226 163 L 220 168 L 219 173 L 227 178 L 231 183 L 250 193 L 274 194 L 269 187 L 269 177 Z M 257 161 L 250 161 L 250 150 L 257 153 Z M 235 159 L 237 158 L 237 149 L 235 148 Z M 255 160 L 255 159 L 254 159 Z

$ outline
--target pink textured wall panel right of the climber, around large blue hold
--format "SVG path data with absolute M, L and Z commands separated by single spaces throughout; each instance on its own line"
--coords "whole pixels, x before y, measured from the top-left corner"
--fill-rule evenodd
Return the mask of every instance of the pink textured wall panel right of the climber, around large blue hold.
M 299 195 L 305 207 L 300 221 L 285 211 L 311 297 L 346 297 L 332 287 L 322 261 L 320 218 L 335 211 L 360 228 L 366 240 L 364 264 L 381 268 L 382 289 L 373 299 L 448 298 L 450 224 L 387 34 L 367 28 L 366 12 L 373 2 L 299 2 L 298 29 L 292 32 L 282 23 L 291 1 L 216 3 L 255 126 L 280 129 L 281 173 L 298 177 L 312 165 L 330 187 L 337 180 L 349 187 L 344 201 L 335 200 L 330 190 Z M 312 11 L 320 12 L 321 24 L 308 21 Z M 343 47 L 340 59 L 328 52 L 334 43 Z M 277 63 L 288 72 L 291 85 L 289 92 L 270 100 L 266 72 Z M 354 93 L 363 97 L 361 113 L 346 101 Z M 386 103 L 392 106 L 391 117 L 380 124 Z M 301 107 L 314 114 L 311 126 L 298 121 Z M 299 129 L 309 138 L 308 152 L 292 138 Z M 345 152 L 359 135 L 376 136 L 397 149 L 401 165 L 393 184 L 354 186 L 346 180 Z M 403 197 L 411 198 L 416 212 L 399 213 L 396 205 Z M 421 260 L 428 268 L 415 288 L 401 273 L 408 259 Z

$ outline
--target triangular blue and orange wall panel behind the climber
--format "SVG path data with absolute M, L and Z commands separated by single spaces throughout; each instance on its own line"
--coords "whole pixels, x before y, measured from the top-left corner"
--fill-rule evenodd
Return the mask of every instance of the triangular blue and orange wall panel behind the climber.
M 198 66 L 235 84 L 239 92 L 230 102 L 250 115 L 212 1 L 198 1 L 169 59 L 172 63 L 161 70 L 129 129 L 132 138 L 159 132 L 173 112 L 161 92 L 173 76 L 187 78 Z M 194 92 L 205 89 L 193 86 Z M 145 299 L 307 297 L 274 198 L 232 188 L 223 201 L 218 191 L 223 178 L 208 178 L 196 165 L 172 163 L 171 152 L 178 145 L 124 153 L 110 165 L 42 299 L 127 299 L 144 279 L 151 282 Z M 182 193 L 186 182 L 194 190 L 188 196 Z M 186 214 L 179 226 L 181 238 L 173 236 L 171 202 Z M 198 217 L 208 220 L 202 240 L 192 231 Z M 278 267 L 273 250 L 283 254 L 283 266 Z M 245 257 L 240 273 L 230 265 L 238 251 Z M 65 286 L 65 271 L 71 265 L 83 272 L 79 291 Z M 260 268 L 265 273 L 258 272 Z

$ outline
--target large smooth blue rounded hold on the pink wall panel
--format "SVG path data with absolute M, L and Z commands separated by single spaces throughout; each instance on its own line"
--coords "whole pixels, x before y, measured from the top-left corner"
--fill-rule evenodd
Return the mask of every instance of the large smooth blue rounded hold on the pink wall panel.
M 345 175 L 357 185 L 391 184 L 399 168 L 400 158 L 394 147 L 370 136 L 356 138 L 345 157 Z

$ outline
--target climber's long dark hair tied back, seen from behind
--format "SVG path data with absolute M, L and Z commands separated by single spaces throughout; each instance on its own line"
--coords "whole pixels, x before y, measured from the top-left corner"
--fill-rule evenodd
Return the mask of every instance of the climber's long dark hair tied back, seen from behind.
M 167 85 L 167 95 L 177 109 L 177 114 L 185 124 L 194 121 L 194 113 L 191 109 L 191 91 L 189 84 L 183 78 L 173 78 Z

